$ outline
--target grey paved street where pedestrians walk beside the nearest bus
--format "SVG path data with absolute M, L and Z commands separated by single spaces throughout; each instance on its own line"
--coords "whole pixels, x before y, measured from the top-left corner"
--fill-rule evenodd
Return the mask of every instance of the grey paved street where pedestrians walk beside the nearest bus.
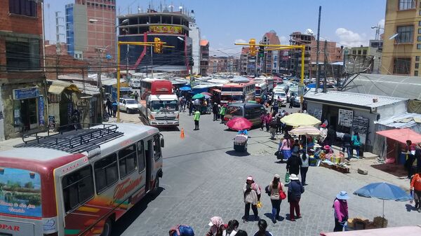
M 131 115 L 136 116 L 136 115 Z M 225 222 L 240 221 L 239 228 L 253 235 L 257 222 L 242 223 L 242 186 L 246 176 L 251 174 L 262 189 L 269 184 L 275 173 L 283 176 L 285 164 L 274 158 L 276 143 L 267 132 L 252 130 L 248 151 L 250 155 L 233 151 L 232 138 L 235 132 L 225 130 L 225 125 L 212 121 L 211 115 L 201 116 L 200 130 L 193 131 L 192 116 L 180 116 L 180 128 L 185 129 L 185 139 L 180 131 L 163 130 L 166 139 L 164 148 L 163 179 L 159 195 L 149 196 L 131 209 L 117 222 L 113 235 L 168 235 L 172 225 L 192 225 L 196 235 L 205 235 L 212 216 L 221 216 Z M 270 151 L 265 151 L 270 150 Z M 382 178 L 392 178 L 383 176 Z M 272 223 L 269 197 L 262 193 L 261 218 L 269 223 L 274 235 L 319 235 L 321 231 L 332 231 L 335 195 L 340 190 L 352 193 L 377 176 L 341 174 L 323 167 L 310 167 L 307 174 L 308 186 L 302 195 L 302 218 L 296 222 L 283 220 Z M 385 202 L 385 215 L 389 226 L 416 225 L 421 214 L 407 211 L 409 202 Z M 288 202 L 281 204 L 281 216 L 286 218 Z M 352 195 L 349 200 L 350 217 L 361 216 L 373 219 L 382 214 L 382 202 Z M 253 215 L 253 214 L 252 214 Z

